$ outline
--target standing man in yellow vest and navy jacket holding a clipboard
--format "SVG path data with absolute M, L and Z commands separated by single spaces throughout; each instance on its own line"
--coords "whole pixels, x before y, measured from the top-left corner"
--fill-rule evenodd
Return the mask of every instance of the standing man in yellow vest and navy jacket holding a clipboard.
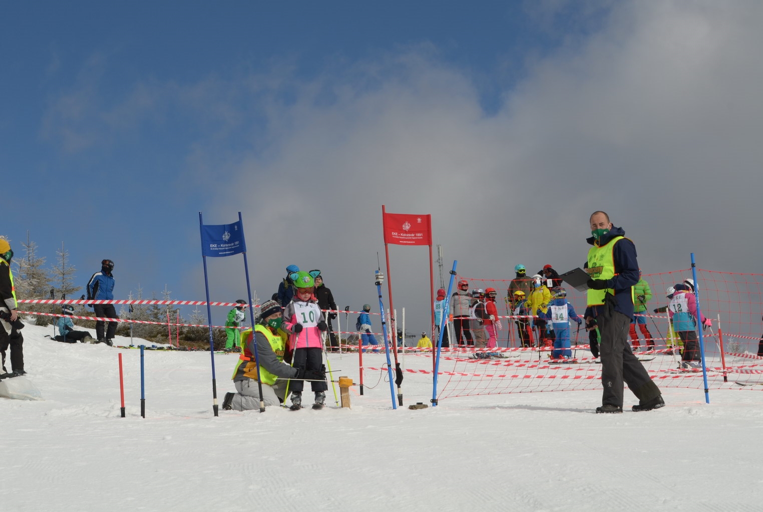
M 604 393 L 597 413 L 623 412 L 623 381 L 639 404 L 633 411 L 651 411 L 665 405 L 657 385 L 639 359 L 633 355 L 628 343 L 628 331 L 633 320 L 633 285 L 639 281 L 636 245 L 622 228 L 610 222 L 607 213 L 591 214 L 593 245 L 584 265 L 588 276 L 588 306 L 594 313 L 601 340 L 601 384 Z

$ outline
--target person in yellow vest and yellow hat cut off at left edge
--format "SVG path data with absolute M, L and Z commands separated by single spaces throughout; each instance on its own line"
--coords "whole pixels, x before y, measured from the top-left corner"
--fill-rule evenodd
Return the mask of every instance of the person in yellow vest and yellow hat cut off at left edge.
M 0 378 L 24 375 L 24 336 L 20 329 L 24 327 L 18 318 L 16 308 L 16 289 L 13 285 L 11 259 L 13 251 L 8 240 L 0 238 L 0 358 L 2 358 L 2 375 Z M 5 368 L 5 350 L 11 347 L 11 372 Z

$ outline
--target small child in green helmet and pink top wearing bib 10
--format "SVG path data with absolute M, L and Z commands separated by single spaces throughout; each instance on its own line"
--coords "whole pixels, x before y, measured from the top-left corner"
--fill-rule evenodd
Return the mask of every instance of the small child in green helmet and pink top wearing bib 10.
M 323 312 L 318 307 L 313 295 L 315 277 L 307 272 L 295 272 L 289 276 L 294 283 L 295 293 L 283 312 L 282 329 L 288 334 L 288 347 L 292 352 L 291 366 L 298 368 L 304 374 L 307 370 L 323 371 L 321 350 L 324 347 L 322 333 L 328 325 Z M 302 407 L 302 390 L 304 380 L 291 380 L 291 409 Z M 311 389 L 315 392 L 313 408 L 321 408 L 326 400 L 326 381 L 312 381 Z

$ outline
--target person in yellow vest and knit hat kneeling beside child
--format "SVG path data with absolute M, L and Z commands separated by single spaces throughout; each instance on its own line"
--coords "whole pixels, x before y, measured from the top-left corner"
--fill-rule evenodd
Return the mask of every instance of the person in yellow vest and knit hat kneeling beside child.
M 259 378 L 262 379 L 262 401 L 265 406 L 278 405 L 285 400 L 288 379 L 297 379 L 299 370 L 283 362 L 287 335 L 281 328 L 282 308 L 269 300 L 259 309 L 259 320 L 252 329 L 241 333 L 241 355 L 233 370 L 233 385 L 237 393 L 225 393 L 223 409 L 246 411 L 259 409 L 259 386 L 254 345 L 257 345 Z M 281 379 L 278 379 L 278 378 Z M 325 378 L 325 377 L 324 377 Z

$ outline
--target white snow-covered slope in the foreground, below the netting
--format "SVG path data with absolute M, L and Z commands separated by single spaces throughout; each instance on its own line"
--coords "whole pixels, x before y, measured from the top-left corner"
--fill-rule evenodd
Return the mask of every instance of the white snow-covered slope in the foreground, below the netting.
M 212 414 L 210 355 L 62 344 L 24 328 L 40 401 L 0 398 L 0 510 L 763 510 L 763 393 L 663 389 L 658 411 L 594 414 L 598 391 L 449 398 L 386 373 L 351 409 Z M 117 339 L 128 344 L 129 338 Z M 120 417 L 122 354 L 127 418 Z M 217 395 L 235 355 L 217 355 Z M 426 361 L 407 358 L 406 363 Z M 365 354 L 379 367 L 384 354 Z M 357 379 L 357 356 L 331 358 Z M 357 380 L 355 381 L 357 382 Z M 370 387 L 375 386 L 375 387 Z M 338 392 L 338 389 L 337 389 Z M 636 403 L 626 391 L 626 405 Z

